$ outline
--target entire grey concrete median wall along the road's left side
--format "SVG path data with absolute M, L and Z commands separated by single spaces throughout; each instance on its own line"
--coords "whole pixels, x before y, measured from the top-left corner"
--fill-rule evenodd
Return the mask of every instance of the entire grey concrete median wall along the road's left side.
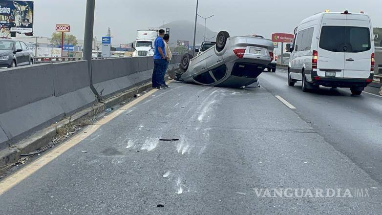
M 92 60 L 93 85 L 110 96 L 149 81 L 153 67 L 152 57 Z M 85 61 L 0 70 L 0 150 L 95 101 Z

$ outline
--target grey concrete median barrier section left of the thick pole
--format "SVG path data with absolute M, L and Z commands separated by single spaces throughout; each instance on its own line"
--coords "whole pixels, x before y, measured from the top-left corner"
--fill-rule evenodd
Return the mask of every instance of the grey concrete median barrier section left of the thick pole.
M 90 106 L 85 61 L 38 64 L 0 72 L 0 149 Z M 5 135 L 5 137 L 4 137 Z

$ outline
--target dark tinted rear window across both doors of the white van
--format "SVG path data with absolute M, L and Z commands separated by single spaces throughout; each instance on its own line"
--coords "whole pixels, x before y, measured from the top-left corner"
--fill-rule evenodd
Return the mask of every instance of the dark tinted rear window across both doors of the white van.
M 354 26 L 323 26 L 319 47 L 333 52 L 363 52 L 371 49 L 370 29 Z

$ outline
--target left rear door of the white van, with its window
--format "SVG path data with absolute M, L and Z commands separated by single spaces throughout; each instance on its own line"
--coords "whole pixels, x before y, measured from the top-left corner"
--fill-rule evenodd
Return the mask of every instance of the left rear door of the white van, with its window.
M 318 41 L 317 74 L 325 77 L 326 72 L 335 72 L 343 77 L 345 52 L 346 16 L 342 14 L 324 14 Z

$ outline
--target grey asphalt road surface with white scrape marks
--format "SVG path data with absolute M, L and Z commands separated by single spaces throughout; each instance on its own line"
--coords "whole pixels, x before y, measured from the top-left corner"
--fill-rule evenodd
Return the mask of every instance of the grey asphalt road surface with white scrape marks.
M 170 85 L 0 195 L 0 214 L 382 213 L 382 98 L 303 93 L 282 71 L 260 88 Z

